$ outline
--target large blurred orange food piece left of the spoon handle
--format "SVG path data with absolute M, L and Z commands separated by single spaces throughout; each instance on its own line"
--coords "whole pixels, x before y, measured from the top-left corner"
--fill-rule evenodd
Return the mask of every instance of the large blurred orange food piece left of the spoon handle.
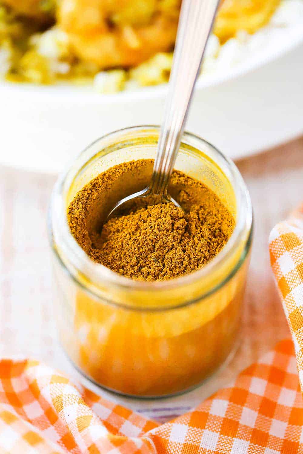
M 172 49 L 180 0 L 62 0 L 58 20 L 75 54 L 99 68 L 135 66 Z

